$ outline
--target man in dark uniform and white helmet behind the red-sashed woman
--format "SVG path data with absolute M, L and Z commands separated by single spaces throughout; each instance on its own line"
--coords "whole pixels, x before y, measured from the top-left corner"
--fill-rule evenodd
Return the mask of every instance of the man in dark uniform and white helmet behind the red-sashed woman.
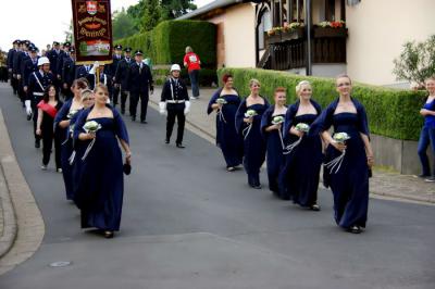
M 40 147 L 40 137 L 36 135 L 36 122 L 38 121 L 37 105 L 44 98 L 44 91 L 54 80 L 54 75 L 50 73 L 50 61 L 48 58 L 38 59 L 38 68 L 39 71 L 32 73 L 28 78 L 27 99 L 25 101 L 27 115 L 33 114 L 35 148 Z

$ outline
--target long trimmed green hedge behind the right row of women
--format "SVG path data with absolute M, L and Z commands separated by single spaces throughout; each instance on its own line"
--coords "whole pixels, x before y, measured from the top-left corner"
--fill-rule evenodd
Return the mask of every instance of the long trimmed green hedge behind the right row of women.
M 253 68 L 222 68 L 217 71 L 219 79 L 224 73 L 231 73 L 234 76 L 235 87 L 243 96 L 249 95 L 249 79 L 259 79 L 261 93 L 271 102 L 273 102 L 273 90 L 278 86 L 287 88 L 288 103 L 295 102 L 295 87 L 303 79 L 312 84 L 313 99 L 322 108 L 337 98 L 335 79 L 332 78 L 307 77 Z M 371 133 L 395 139 L 419 139 L 423 125 L 423 117 L 420 116 L 419 111 L 424 103 L 426 96 L 424 92 L 356 83 L 352 95 L 365 106 Z

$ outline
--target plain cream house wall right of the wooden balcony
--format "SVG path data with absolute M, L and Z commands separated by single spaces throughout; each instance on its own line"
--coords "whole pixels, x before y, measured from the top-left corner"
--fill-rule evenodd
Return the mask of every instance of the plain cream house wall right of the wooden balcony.
M 435 34 L 435 0 L 363 0 L 346 5 L 347 72 L 374 85 L 398 84 L 393 60 L 408 40 Z

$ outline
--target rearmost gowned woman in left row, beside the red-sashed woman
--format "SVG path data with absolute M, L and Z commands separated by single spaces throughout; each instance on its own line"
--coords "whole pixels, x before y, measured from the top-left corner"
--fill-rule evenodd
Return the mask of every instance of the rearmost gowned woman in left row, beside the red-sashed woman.
M 66 199 L 73 200 L 73 176 L 72 167 L 70 165 L 70 156 L 73 153 L 73 140 L 71 138 L 70 122 L 79 110 L 83 109 L 82 104 L 82 90 L 88 87 L 86 79 L 78 78 L 73 81 L 71 90 L 74 97 L 66 101 L 61 111 L 54 118 L 54 130 L 60 134 L 61 139 L 61 164 L 63 181 L 65 183 Z

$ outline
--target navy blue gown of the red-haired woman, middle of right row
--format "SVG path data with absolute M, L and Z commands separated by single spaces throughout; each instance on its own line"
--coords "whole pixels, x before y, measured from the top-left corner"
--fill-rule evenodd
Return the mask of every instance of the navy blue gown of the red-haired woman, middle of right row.
M 269 189 L 273 191 L 275 194 L 279 193 L 278 187 L 278 176 L 279 172 L 284 165 L 284 156 L 283 156 L 283 141 L 282 129 L 265 131 L 268 126 L 272 125 L 272 120 L 275 116 L 283 116 L 284 114 L 273 115 L 275 111 L 275 105 L 271 105 L 263 114 L 261 118 L 261 133 L 264 137 L 266 143 L 266 165 L 268 165 L 268 179 L 269 179 Z

